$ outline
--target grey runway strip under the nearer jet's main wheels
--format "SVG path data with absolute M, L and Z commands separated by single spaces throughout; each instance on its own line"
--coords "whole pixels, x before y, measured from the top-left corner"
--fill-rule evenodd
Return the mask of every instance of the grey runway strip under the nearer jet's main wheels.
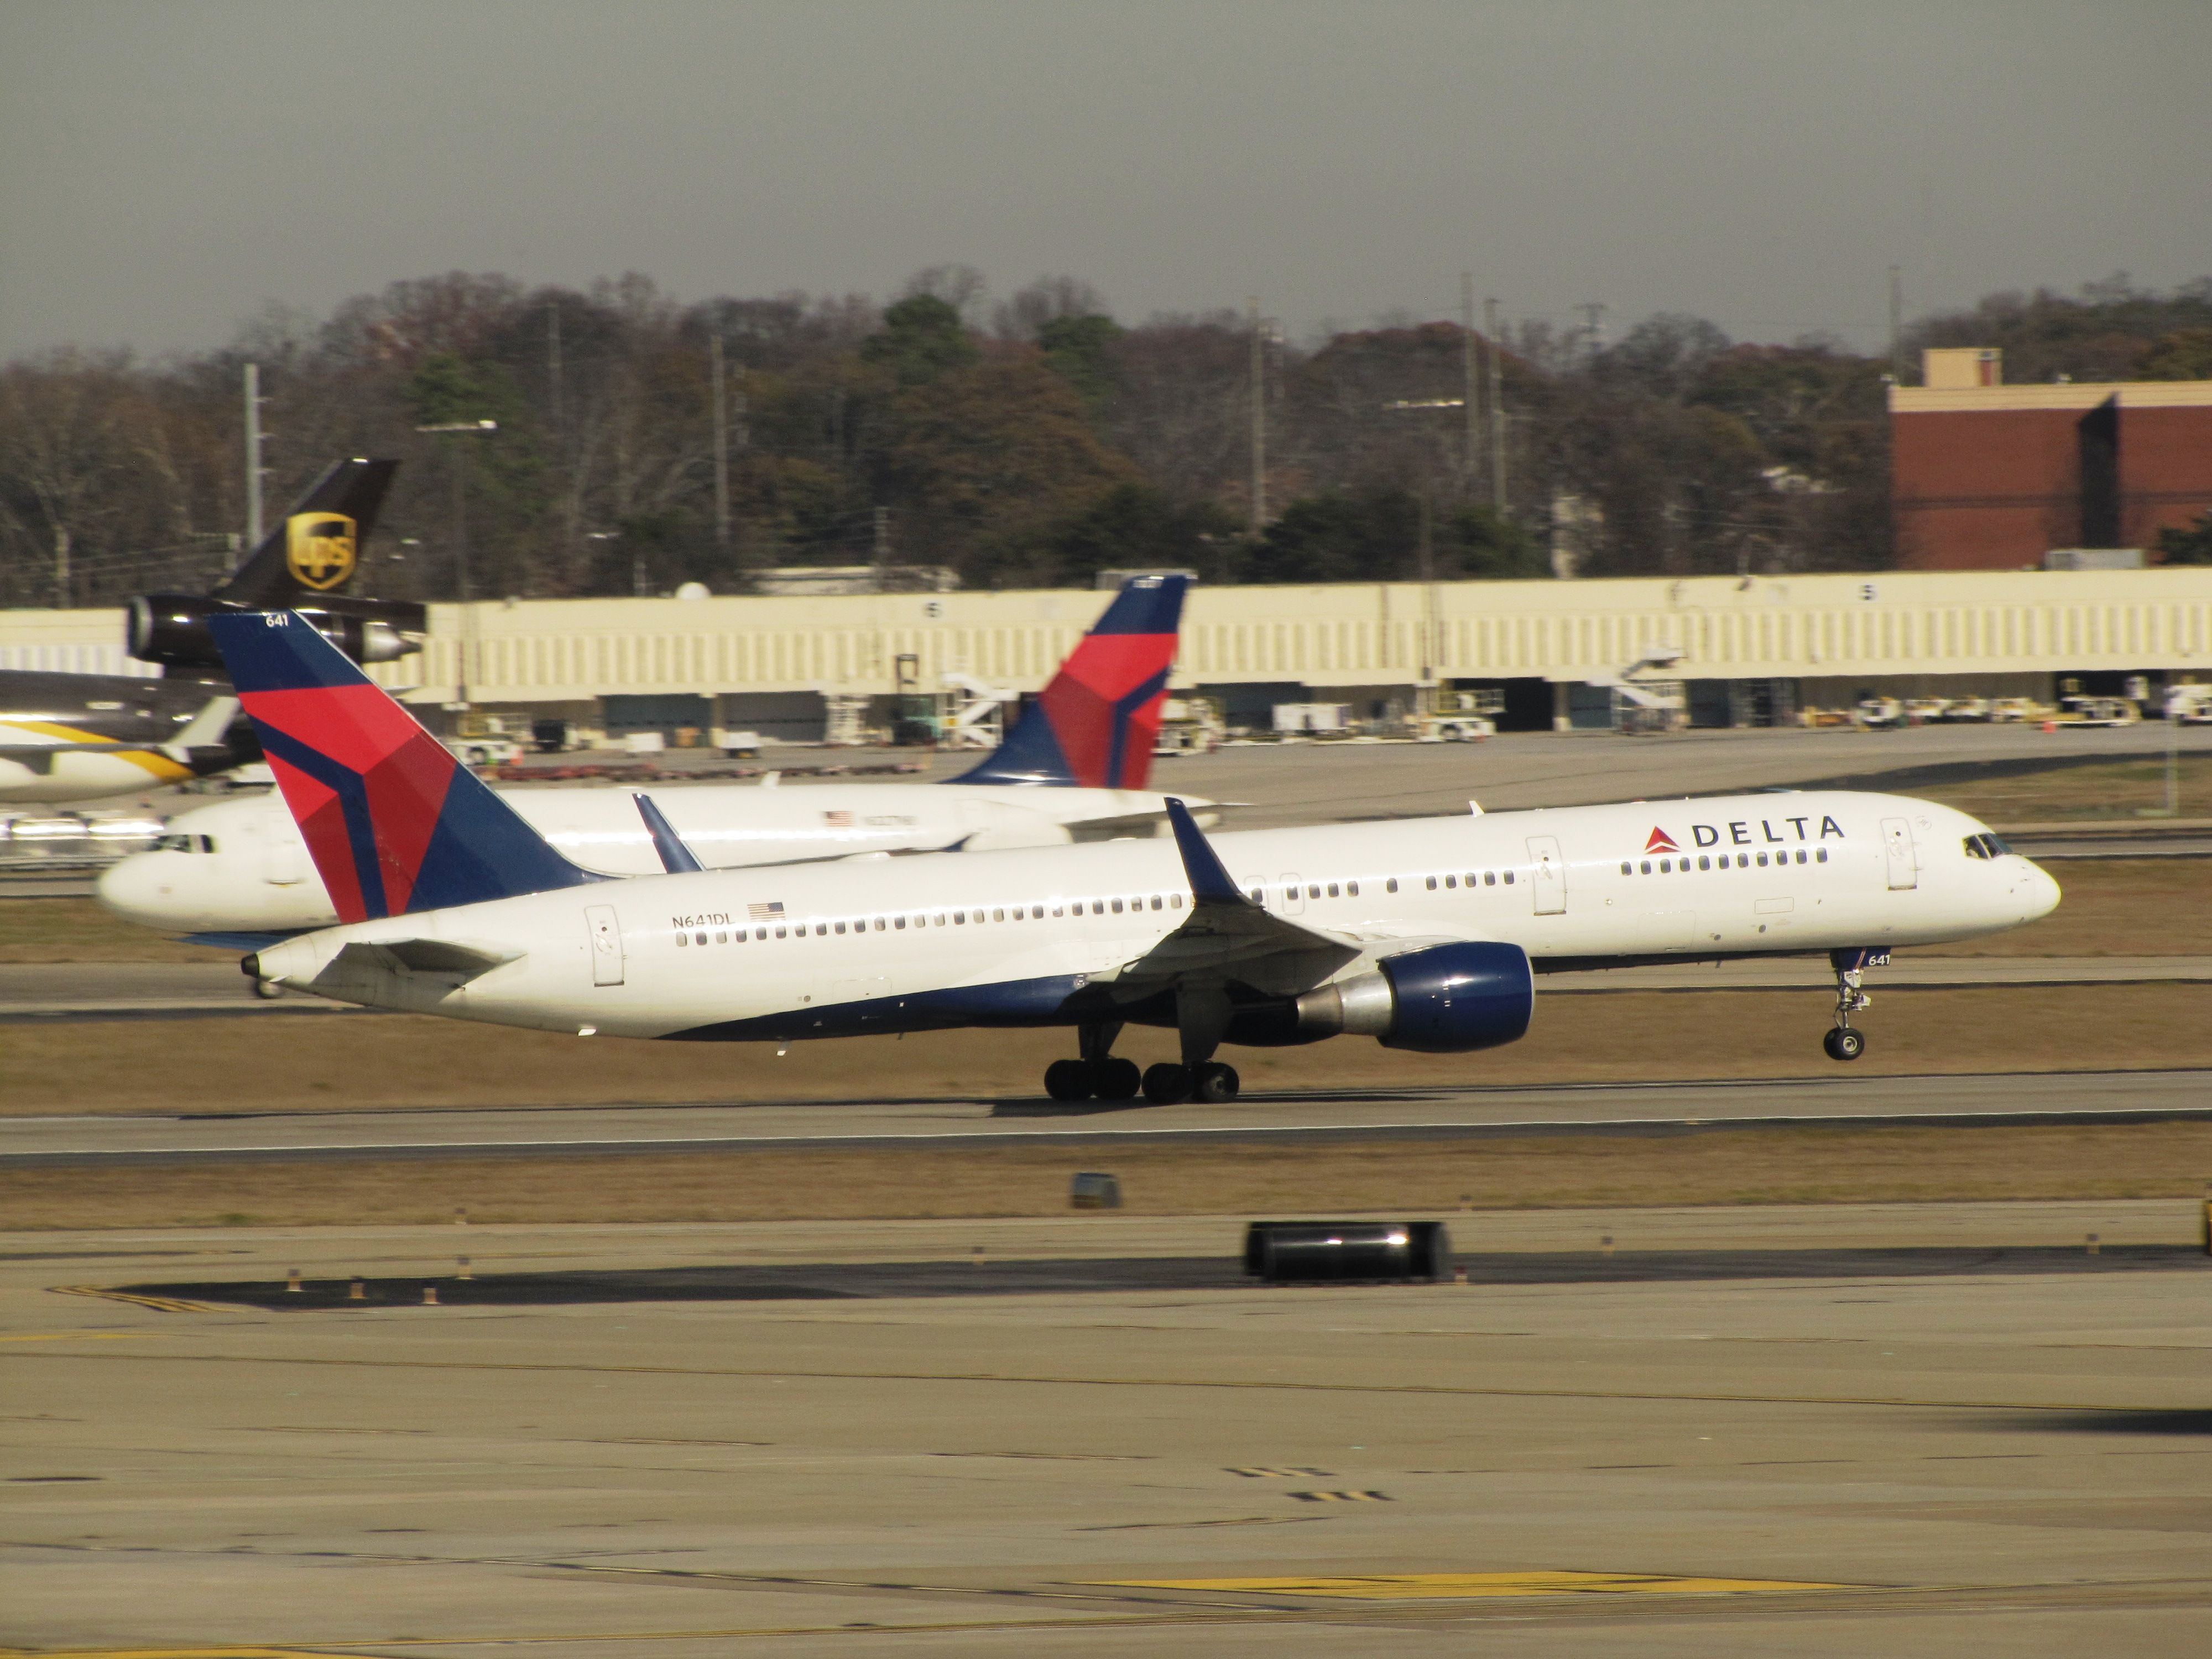
M 1042 1099 L 7 1117 L 0 1168 L 389 1157 L 617 1157 L 869 1146 L 1659 1135 L 1759 1124 L 2000 1126 L 2212 1117 L 2212 1071 L 1829 1075 L 1781 1082 L 1369 1088 L 1228 1106 Z

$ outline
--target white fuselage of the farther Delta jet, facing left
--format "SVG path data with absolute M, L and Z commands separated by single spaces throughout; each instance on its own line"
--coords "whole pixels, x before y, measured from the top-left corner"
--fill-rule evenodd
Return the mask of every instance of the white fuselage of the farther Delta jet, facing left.
M 734 783 L 666 785 L 650 794 L 708 869 L 883 852 L 1051 847 L 1155 834 L 1166 823 L 1164 799 L 1144 790 Z M 584 869 L 648 876 L 661 867 L 626 787 L 504 790 L 502 796 Z M 338 920 L 307 843 L 274 792 L 179 812 L 159 847 L 131 854 L 102 874 L 100 902 L 142 927 L 173 933 L 299 933 Z

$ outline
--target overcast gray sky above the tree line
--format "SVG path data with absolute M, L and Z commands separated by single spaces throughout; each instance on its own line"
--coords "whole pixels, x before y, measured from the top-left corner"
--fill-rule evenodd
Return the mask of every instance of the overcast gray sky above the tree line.
M 0 356 L 442 270 L 978 265 L 1296 334 L 1606 301 L 1885 334 L 2212 272 L 2205 0 L 0 0 Z

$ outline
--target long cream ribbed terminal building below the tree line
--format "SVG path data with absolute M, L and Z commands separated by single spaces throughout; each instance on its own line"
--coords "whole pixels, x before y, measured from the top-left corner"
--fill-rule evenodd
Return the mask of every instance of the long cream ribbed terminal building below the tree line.
M 947 677 L 1035 692 L 1102 606 L 1084 588 L 440 604 L 425 650 L 374 672 L 431 714 L 807 741 L 832 699 L 883 726 Z M 0 613 L 0 668 L 131 672 L 122 635 L 119 611 Z M 1232 726 L 1265 726 L 1274 703 L 1387 719 L 1425 684 L 1491 688 L 1502 726 L 1544 730 L 1610 723 L 1610 688 L 1655 657 L 1674 659 L 1699 726 L 1865 695 L 2212 681 L 2212 568 L 1199 586 L 1172 684 Z

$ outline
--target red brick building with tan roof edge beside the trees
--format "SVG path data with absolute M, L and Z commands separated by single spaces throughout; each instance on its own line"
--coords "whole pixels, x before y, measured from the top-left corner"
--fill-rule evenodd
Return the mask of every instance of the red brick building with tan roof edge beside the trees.
M 2004 385 L 1997 352 L 1927 352 L 1889 389 L 1898 564 L 2017 571 L 2157 549 L 2212 509 L 2212 380 Z M 2152 560 L 2154 562 L 2154 555 Z

